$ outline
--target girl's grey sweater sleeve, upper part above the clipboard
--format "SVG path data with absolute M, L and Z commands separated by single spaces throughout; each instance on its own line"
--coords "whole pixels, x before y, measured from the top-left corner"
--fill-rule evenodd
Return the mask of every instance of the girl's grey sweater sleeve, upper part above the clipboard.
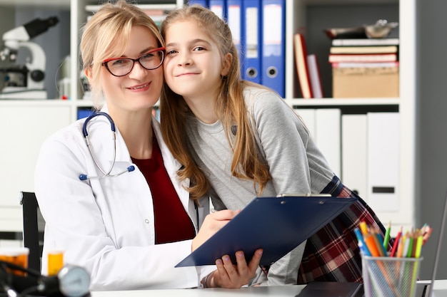
M 311 192 L 309 135 L 294 111 L 279 100 L 273 93 L 261 93 L 253 103 L 260 150 L 277 194 L 307 194 Z

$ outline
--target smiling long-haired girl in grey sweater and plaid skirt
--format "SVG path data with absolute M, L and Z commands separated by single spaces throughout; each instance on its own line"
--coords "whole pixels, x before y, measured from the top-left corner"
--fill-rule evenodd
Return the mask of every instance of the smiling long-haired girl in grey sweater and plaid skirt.
M 184 165 L 179 177 L 191 179 L 191 196 L 209 194 L 216 209 L 242 209 L 255 196 L 277 194 L 357 197 L 333 174 L 282 98 L 241 80 L 230 28 L 218 16 L 186 6 L 166 17 L 161 34 L 166 42 L 161 130 Z M 353 233 L 361 221 L 384 231 L 359 199 L 311 236 L 304 251 L 302 244 L 268 272 L 258 270 L 251 284 L 361 281 Z

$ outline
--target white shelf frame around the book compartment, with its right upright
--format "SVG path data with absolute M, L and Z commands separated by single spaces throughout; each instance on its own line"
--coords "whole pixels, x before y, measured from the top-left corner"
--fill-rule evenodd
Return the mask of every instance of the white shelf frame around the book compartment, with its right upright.
M 293 33 L 306 26 L 306 11 L 312 6 L 361 6 L 398 4 L 399 98 L 296 98 L 296 68 L 293 59 Z M 380 16 L 378 17 L 380 19 Z M 396 108 L 400 116 L 399 195 L 397 212 L 377 212 L 384 224 L 393 223 L 393 230 L 416 227 L 416 1 L 415 0 L 286 0 L 286 101 L 295 108 L 358 108 L 378 106 Z M 394 20 L 391 20 L 394 21 Z M 313 22 L 315 24 L 315 22 Z M 322 33 L 323 35 L 323 33 Z M 320 57 L 322 63 L 324 58 Z M 385 107 L 386 109 L 386 107 Z M 343 178 L 342 178 L 343 179 Z M 349 187 L 349 184 L 347 184 Z

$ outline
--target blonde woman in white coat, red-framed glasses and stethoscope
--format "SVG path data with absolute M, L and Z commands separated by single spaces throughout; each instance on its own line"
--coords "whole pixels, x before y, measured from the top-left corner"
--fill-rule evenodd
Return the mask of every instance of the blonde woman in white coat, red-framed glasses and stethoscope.
M 151 116 L 163 84 L 162 46 L 154 21 L 124 0 L 104 4 L 87 22 L 84 73 L 92 98 L 105 104 L 41 147 L 35 192 L 46 221 L 42 273 L 49 251 L 63 249 L 66 264 L 91 273 L 92 291 L 239 288 L 254 276 L 261 250 L 249 264 L 237 252 L 234 266 L 223 255 L 216 266 L 174 268 L 237 212 L 205 217 L 208 199 L 190 199 L 189 181 L 177 178 L 181 164 Z

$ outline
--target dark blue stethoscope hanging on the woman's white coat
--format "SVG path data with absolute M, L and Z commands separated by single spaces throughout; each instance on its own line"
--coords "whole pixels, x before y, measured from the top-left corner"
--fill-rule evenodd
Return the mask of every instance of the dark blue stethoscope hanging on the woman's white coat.
M 111 163 L 111 166 L 110 166 L 109 170 L 104 170 L 104 169 L 101 167 L 101 165 L 99 165 L 98 160 L 96 160 L 96 155 L 94 154 L 94 152 L 93 152 L 93 150 L 92 150 L 92 148 L 91 148 L 91 145 L 90 145 L 89 132 L 87 132 L 87 125 L 89 124 L 90 120 L 91 120 L 92 118 L 96 118 L 96 117 L 99 116 L 99 115 L 103 115 L 104 117 L 107 118 L 107 120 L 109 120 L 109 123 L 110 123 L 110 126 L 111 126 L 111 131 L 112 131 L 112 134 L 113 134 L 113 140 L 114 140 L 114 159 L 113 159 L 113 161 L 112 161 L 112 163 Z M 81 180 L 86 180 L 86 179 L 102 179 L 102 178 L 104 178 L 104 177 L 118 177 L 118 176 L 121 175 L 121 174 L 124 174 L 124 173 L 126 173 L 126 172 L 132 172 L 132 171 L 135 170 L 135 166 L 134 166 L 134 165 L 131 165 L 131 166 L 127 167 L 126 170 L 124 170 L 123 172 L 119 172 L 119 173 L 117 173 L 117 174 L 110 174 L 111 171 L 114 169 L 115 159 L 116 159 L 116 129 L 115 129 L 115 123 L 114 123 L 114 120 L 112 120 L 112 118 L 110 117 L 110 115 L 108 115 L 107 113 L 103 113 L 102 111 L 97 111 L 97 112 L 95 112 L 95 113 L 92 113 L 92 114 L 89 116 L 89 118 L 86 118 L 86 120 L 85 120 L 85 122 L 84 122 L 84 125 L 82 125 L 82 132 L 83 132 L 84 137 L 85 137 L 85 139 L 86 139 L 87 147 L 89 147 L 90 155 L 91 155 L 91 157 L 93 158 L 96 167 L 98 167 L 98 169 L 101 170 L 101 172 L 102 172 L 103 174 L 102 174 L 101 176 L 97 176 L 97 177 L 89 176 L 89 175 L 87 175 L 87 174 L 81 174 L 81 175 L 79 175 L 79 179 L 81 179 Z

